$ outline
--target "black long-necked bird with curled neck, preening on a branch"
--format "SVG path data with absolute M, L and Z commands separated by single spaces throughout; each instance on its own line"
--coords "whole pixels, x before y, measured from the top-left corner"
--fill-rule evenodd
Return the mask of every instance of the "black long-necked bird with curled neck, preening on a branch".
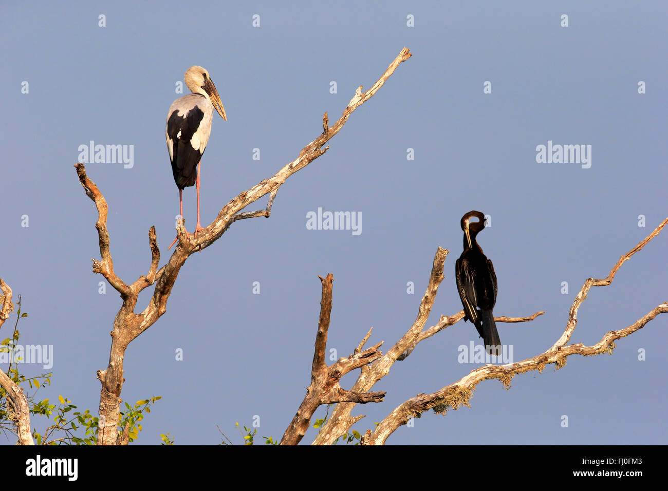
M 471 218 L 478 222 L 471 222 Z M 492 261 L 482 253 L 476 235 L 485 228 L 485 216 L 479 211 L 470 211 L 462 216 L 464 230 L 464 252 L 455 263 L 457 289 L 464 306 L 464 320 L 471 321 L 484 340 L 490 355 L 501 354 L 501 340 L 494 323 L 496 303 L 496 273 Z

